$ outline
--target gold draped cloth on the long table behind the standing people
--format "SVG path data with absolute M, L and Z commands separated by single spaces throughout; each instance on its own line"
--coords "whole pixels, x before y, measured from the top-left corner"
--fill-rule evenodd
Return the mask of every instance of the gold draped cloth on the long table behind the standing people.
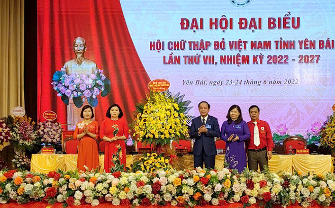
M 142 155 L 126 155 L 126 166 L 138 160 Z M 104 155 L 99 155 L 100 171 L 104 170 Z M 173 164 L 178 169 L 193 168 L 193 155 L 184 155 Z M 224 166 L 224 155 L 219 154 L 215 159 L 215 167 Z M 326 174 L 333 171 L 330 155 L 273 155 L 269 160 L 272 171 L 284 170 L 291 172 L 300 170 L 303 174 Z M 31 156 L 30 171 L 47 174 L 51 170 L 75 170 L 77 168 L 77 155 L 33 154 Z

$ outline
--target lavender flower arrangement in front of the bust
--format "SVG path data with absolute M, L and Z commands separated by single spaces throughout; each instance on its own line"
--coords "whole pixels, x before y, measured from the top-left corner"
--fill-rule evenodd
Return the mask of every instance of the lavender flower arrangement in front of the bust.
M 89 105 L 97 106 L 97 96 L 105 97 L 111 89 L 111 82 L 104 75 L 103 70 L 97 70 L 94 74 L 71 74 L 65 72 L 62 67 L 56 71 L 52 77 L 53 89 L 57 91 L 57 96 L 69 105 L 69 100 L 73 99 L 76 107 L 80 108 L 85 100 Z

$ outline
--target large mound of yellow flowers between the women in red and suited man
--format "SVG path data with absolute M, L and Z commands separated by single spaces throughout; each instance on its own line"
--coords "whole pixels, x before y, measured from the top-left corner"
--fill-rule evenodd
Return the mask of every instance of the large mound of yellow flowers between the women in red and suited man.
M 187 112 L 190 100 L 183 101 L 184 95 L 173 96 L 168 92 L 151 92 L 147 102 L 136 106 L 136 118 L 131 124 L 138 141 L 154 146 L 170 144 L 188 136 Z

